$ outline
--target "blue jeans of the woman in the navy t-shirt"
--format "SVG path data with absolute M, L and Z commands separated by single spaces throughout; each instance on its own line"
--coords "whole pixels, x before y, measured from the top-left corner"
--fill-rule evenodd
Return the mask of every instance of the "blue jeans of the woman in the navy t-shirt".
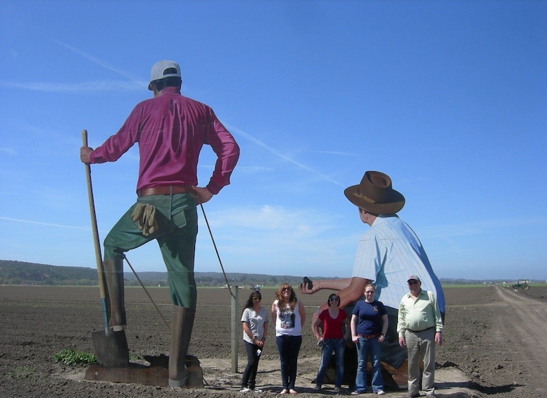
M 382 356 L 382 343 L 378 342 L 378 337 L 365 339 L 359 337 L 357 340 L 357 375 L 356 391 L 365 392 L 367 390 L 367 360 L 370 352 L 370 363 L 372 363 L 372 392 L 384 390 L 384 379 L 382 378 L 382 366 L 380 357 Z

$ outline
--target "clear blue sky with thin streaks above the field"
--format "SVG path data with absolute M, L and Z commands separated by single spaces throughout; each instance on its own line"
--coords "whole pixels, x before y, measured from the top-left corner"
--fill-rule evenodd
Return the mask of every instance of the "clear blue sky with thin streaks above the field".
M 95 266 L 81 131 L 96 147 L 178 61 L 241 147 L 204 207 L 225 270 L 351 276 L 344 188 L 391 176 L 439 278 L 547 279 L 547 1 L 0 4 L 0 259 Z M 204 147 L 199 182 L 214 156 Z M 92 166 L 102 239 L 138 152 Z M 201 211 L 199 211 L 201 216 Z M 196 271 L 220 271 L 203 218 Z M 128 254 L 165 270 L 153 242 Z

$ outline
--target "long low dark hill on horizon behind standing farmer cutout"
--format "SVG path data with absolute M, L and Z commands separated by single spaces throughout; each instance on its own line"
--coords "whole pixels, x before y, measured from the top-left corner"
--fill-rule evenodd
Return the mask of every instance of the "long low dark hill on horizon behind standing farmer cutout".
M 167 286 L 167 272 L 139 272 L 139 279 L 146 286 Z M 196 272 L 196 284 L 201 287 L 225 286 L 222 273 Z M 303 275 L 265 275 L 248 273 L 226 273 L 230 285 L 277 286 L 284 282 L 298 285 Z M 314 277 L 312 280 L 333 278 Z M 139 285 L 133 273 L 124 273 L 125 285 Z M 96 268 L 51 266 L 23 261 L 0 260 L 0 285 L 52 285 L 52 286 L 96 286 Z

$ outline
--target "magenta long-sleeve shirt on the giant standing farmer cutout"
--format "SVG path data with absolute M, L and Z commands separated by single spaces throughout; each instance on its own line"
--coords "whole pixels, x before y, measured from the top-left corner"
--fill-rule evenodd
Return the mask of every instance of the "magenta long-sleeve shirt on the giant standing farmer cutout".
M 207 189 L 218 194 L 230 184 L 239 146 L 213 109 L 165 87 L 158 97 L 134 107 L 122 128 L 89 156 L 91 163 L 117 161 L 139 142 L 139 189 L 165 185 L 198 185 L 197 166 L 203 144 L 217 155 Z

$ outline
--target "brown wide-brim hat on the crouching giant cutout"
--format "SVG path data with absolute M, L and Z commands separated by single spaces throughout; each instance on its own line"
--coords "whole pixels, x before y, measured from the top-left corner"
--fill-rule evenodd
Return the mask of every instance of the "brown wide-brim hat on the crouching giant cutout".
M 405 206 L 405 197 L 391 187 L 389 175 L 367 171 L 359 185 L 344 189 L 351 203 L 372 214 L 397 213 Z

